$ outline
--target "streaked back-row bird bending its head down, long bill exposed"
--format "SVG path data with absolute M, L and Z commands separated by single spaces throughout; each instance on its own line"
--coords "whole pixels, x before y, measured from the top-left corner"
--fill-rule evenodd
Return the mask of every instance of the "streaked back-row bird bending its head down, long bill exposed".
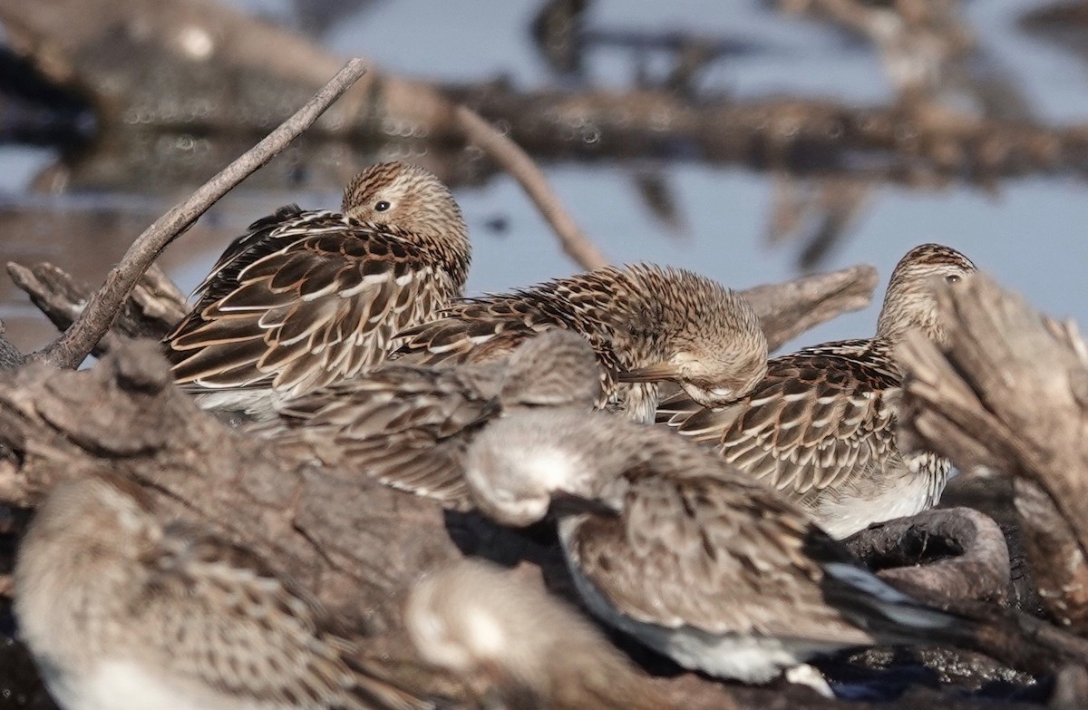
M 652 421 L 657 382 L 716 404 L 763 375 L 767 342 L 743 297 L 710 279 L 651 265 L 604 267 L 444 309 L 401 333 L 398 355 L 422 363 L 503 357 L 534 333 L 583 334 L 601 365 L 601 406 Z

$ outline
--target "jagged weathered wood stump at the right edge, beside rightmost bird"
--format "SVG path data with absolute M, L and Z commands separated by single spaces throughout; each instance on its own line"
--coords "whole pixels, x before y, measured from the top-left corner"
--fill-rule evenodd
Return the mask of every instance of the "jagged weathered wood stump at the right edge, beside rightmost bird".
M 979 274 L 940 294 L 949 347 L 911 339 L 901 356 L 903 442 L 1016 486 L 1028 560 L 1055 619 L 1088 631 L 1088 347 Z

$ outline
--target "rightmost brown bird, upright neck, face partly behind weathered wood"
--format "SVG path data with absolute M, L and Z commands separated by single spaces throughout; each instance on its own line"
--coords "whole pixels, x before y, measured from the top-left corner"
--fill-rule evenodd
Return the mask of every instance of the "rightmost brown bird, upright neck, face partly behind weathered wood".
M 708 408 L 676 396 L 663 403 L 658 421 L 713 444 L 838 538 L 932 507 L 950 463 L 897 446 L 902 374 L 894 351 L 913 328 L 944 342 L 935 284 L 974 271 L 955 249 L 915 247 L 892 272 L 874 338 L 775 357 L 766 377 L 737 401 Z

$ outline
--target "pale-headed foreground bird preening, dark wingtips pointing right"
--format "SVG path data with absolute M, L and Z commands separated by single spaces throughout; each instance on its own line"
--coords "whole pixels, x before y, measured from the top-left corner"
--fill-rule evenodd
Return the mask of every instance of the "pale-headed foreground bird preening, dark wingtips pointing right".
M 820 653 L 956 626 L 856 566 L 777 492 L 660 428 L 522 413 L 477 438 L 467 478 L 499 523 L 557 515 L 589 609 L 690 669 L 765 682 Z

